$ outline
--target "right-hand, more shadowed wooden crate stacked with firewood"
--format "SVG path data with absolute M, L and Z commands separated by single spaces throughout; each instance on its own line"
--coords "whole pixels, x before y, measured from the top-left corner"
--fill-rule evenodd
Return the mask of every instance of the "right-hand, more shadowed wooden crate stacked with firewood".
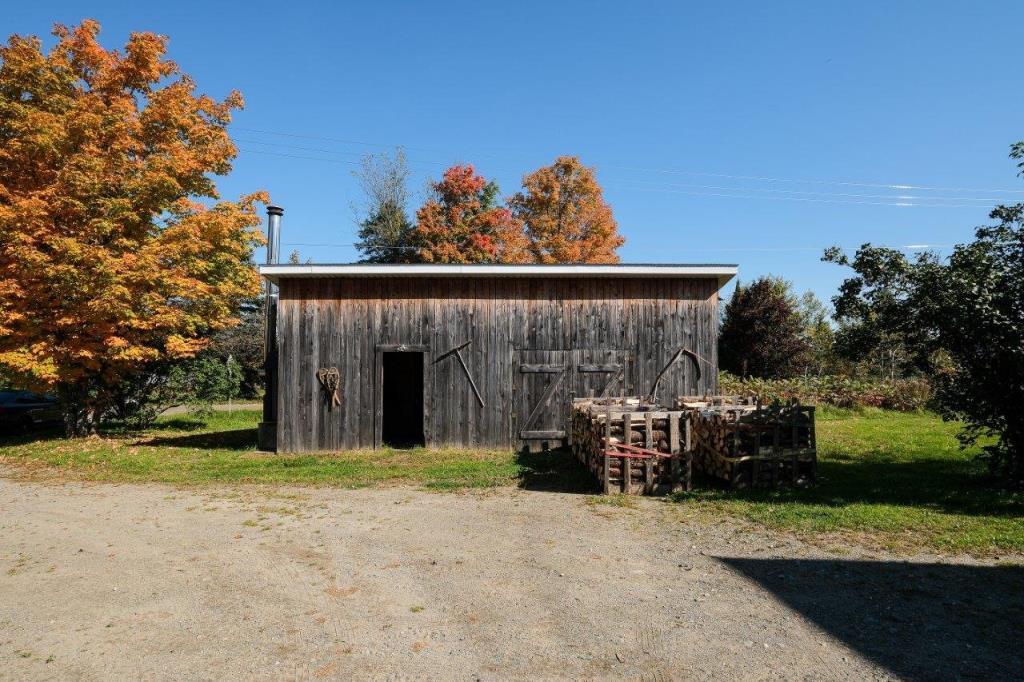
M 687 413 L 696 470 L 733 487 L 813 483 L 814 408 L 796 401 L 766 407 L 734 397 L 687 396 L 676 401 Z

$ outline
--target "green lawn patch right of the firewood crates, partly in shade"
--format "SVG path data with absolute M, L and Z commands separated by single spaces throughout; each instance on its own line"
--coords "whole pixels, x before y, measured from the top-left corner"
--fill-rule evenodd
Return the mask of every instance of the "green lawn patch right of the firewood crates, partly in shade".
M 1024 551 L 1024 496 L 993 487 L 958 425 L 928 413 L 818 411 L 818 484 L 801 491 L 699 489 L 691 513 L 724 512 L 816 535 L 862 535 L 901 549 Z

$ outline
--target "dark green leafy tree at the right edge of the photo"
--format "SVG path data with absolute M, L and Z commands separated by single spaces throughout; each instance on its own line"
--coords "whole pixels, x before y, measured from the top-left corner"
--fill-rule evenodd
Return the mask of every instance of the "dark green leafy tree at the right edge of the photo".
M 1024 143 L 1011 156 L 1024 157 Z M 990 217 L 996 224 L 978 227 L 947 261 L 870 245 L 853 259 L 830 249 L 824 260 L 855 273 L 835 299 L 855 342 L 847 351 L 898 345 L 929 373 L 942 415 L 966 423 L 962 442 L 993 438 L 983 447 L 991 472 L 1024 487 L 1024 204 Z

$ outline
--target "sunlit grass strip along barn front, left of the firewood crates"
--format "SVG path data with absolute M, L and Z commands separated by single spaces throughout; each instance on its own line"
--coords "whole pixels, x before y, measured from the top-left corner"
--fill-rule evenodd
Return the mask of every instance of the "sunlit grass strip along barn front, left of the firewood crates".
M 429 487 L 507 484 L 519 473 L 508 452 L 447 450 L 352 451 L 279 456 L 256 451 L 260 413 L 218 412 L 209 418 L 162 418 L 143 434 L 104 433 L 65 440 L 0 441 L 0 461 L 44 465 L 37 474 L 87 480 L 165 483 L 331 483 L 357 487 L 407 481 Z

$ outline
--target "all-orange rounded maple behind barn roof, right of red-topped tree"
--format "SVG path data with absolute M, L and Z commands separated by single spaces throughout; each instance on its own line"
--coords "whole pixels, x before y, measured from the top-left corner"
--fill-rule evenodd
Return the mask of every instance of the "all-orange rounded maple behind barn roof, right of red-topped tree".
M 522 179 L 509 200 L 525 225 L 531 259 L 538 263 L 617 263 L 626 240 L 605 203 L 593 168 L 577 157 L 559 157 Z

